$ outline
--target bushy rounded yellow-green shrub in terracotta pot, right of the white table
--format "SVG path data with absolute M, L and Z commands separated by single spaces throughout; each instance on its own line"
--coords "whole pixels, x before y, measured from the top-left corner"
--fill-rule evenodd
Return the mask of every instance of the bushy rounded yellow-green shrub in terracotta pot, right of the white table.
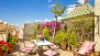
M 63 31 L 58 31 L 55 35 L 55 43 L 60 44 L 63 49 L 66 49 L 67 45 L 67 33 Z

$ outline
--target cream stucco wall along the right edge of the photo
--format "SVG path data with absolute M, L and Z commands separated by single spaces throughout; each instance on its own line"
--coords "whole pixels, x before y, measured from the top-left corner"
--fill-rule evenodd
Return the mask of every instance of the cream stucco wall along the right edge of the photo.
M 95 1 L 95 14 L 97 15 L 95 16 L 95 42 L 97 42 L 95 51 L 100 52 L 100 0 Z

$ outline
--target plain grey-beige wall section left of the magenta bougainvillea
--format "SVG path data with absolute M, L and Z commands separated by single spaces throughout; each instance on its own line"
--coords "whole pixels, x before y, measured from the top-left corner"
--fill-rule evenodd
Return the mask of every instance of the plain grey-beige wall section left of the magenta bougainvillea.
M 40 32 L 40 24 L 38 22 L 34 23 L 26 23 L 24 24 L 23 34 L 25 37 L 36 36 L 36 34 Z

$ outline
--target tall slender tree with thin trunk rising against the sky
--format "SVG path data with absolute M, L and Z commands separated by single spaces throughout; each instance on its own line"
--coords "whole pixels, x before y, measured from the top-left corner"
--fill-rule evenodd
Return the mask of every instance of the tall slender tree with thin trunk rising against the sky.
M 56 19 L 55 27 L 57 26 L 57 18 L 60 16 L 65 10 L 66 10 L 66 7 L 60 7 L 60 3 L 55 2 L 55 5 L 52 9 L 52 12 L 55 14 L 55 19 Z M 56 33 L 55 27 L 54 27 L 53 37 L 55 36 L 55 33 Z

